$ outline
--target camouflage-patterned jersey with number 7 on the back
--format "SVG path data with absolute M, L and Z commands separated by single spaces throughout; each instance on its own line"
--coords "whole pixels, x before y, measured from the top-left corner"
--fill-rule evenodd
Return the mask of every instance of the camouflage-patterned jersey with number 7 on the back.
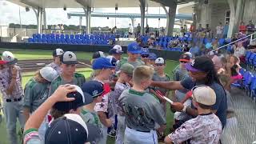
M 174 143 L 190 139 L 191 144 L 218 144 L 221 134 L 222 122 L 215 114 L 205 114 L 186 121 L 168 137 Z

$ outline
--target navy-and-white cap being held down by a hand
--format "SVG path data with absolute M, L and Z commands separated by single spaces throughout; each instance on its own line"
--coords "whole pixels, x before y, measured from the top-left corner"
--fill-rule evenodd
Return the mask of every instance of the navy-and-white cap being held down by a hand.
M 75 100 L 71 102 L 56 102 L 53 106 L 55 109 L 69 111 L 93 102 L 93 99 L 90 96 L 85 95 L 86 93 L 84 94 L 79 86 L 72 86 L 74 86 L 77 91 L 67 94 L 66 97 L 75 98 Z

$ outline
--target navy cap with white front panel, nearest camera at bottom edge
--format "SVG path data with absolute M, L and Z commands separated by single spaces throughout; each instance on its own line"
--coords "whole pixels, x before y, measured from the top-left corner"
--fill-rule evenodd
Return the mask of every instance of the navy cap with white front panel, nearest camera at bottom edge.
M 78 114 L 64 114 L 48 126 L 45 143 L 86 143 L 98 138 L 99 134 L 97 126 L 84 122 Z

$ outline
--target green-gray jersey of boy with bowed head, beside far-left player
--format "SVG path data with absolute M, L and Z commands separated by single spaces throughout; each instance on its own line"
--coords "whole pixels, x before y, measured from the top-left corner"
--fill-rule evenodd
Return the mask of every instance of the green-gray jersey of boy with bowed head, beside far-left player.
M 33 113 L 48 98 L 49 88 L 50 83 L 37 82 L 31 78 L 25 86 L 23 106 L 30 108 L 30 113 Z

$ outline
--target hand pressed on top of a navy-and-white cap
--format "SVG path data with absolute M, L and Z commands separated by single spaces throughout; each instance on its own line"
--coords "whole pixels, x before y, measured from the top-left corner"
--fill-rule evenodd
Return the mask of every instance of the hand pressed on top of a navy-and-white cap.
M 52 97 L 56 99 L 57 102 L 70 102 L 74 101 L 74 98 L 67 98 L 66 95 L 76 91 L 74 86 L 70 84 L 58 86 L 58 89 L 54 91 Z

